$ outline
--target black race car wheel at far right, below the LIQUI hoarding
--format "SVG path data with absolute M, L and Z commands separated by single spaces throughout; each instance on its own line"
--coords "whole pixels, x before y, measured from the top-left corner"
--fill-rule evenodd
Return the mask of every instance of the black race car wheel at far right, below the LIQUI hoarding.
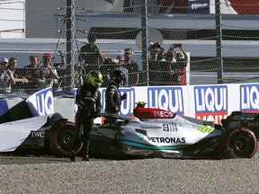
M 252 158 L 257 150 L 255 133 L 248 128 L 231 130 L 226 137 L 227 158 Z

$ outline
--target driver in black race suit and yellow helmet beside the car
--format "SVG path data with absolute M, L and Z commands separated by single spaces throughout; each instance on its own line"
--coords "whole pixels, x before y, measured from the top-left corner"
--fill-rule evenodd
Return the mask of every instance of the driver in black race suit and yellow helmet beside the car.
M 90 132 L 94 119 L 101 113 L 101 93 L 99 87 L 103 84 L 103 75 L 99 71 L 90 71 L 78 93 L 76 93 L 76 128 L 83 131 L 83 161 L 89 161 Z M 71 161 L 75 161 L 72 153 Z

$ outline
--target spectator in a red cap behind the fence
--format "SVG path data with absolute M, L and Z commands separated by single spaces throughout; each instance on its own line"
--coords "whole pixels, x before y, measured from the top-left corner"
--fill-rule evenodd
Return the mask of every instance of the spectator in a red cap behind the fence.
M 52 64 L 52 54 L 45 53 L 43 55 L 43 64 L 40 66 L 40 79 L 39 83 L 41 87 L 54 86 L 58 84 L 58 73 Z

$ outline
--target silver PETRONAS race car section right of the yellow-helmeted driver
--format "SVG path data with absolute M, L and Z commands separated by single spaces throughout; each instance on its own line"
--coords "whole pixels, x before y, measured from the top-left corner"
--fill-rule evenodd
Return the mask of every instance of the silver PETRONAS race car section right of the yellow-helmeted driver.
M 257 150 L 258 132 L 229 119 L 221 126 L 139 104 L 133 117 L 103 117 L 91 134 L 92 155 L 250 158 Z

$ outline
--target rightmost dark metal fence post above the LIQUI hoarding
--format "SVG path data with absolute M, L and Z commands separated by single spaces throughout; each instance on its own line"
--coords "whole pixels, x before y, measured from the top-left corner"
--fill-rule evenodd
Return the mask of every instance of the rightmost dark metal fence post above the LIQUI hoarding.
M 217 80 L 219 84 L 223 83 L 223 58 L 222 58 L 222 26 L 220 0 L 215 0 L 215 22 L 216 22 L 216 63 L 218 66 Z

